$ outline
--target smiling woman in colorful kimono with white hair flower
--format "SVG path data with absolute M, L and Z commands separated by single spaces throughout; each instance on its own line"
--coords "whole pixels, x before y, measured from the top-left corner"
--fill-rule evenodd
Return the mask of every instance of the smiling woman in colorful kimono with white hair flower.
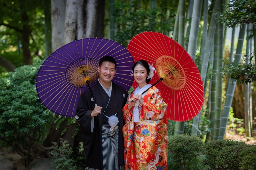
M 125 169 L 167 169 L 167 104 L 160 91 L 148 84 L 154 71 L 145 60 L 137 61 L 132 67 L 139 86 L 129 94 L 123 108 Z

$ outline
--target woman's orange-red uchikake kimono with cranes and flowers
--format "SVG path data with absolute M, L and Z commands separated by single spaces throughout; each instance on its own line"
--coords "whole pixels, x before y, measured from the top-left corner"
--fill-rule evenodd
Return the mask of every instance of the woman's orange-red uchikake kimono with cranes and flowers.
M 133 94 L 134 91 L 129 94 L 128 100 Z M 143 100 L 144 106 L 138 106 L 139 122 L 133 121 L 134 107 L 129 111 L 126 103 L 123 108 L 125 169 L 167 169 L 167 104 L 156 87 L 148 89 Z

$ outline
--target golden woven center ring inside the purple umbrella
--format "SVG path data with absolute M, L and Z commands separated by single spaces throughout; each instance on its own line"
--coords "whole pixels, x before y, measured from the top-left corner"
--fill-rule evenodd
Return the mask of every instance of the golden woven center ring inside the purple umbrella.
M 93 59 L 77 60 L 68 67 L 66 78 L 75 87 L 85 87 L 86 80 L 95 82 L 99 78 L 98 65 Z

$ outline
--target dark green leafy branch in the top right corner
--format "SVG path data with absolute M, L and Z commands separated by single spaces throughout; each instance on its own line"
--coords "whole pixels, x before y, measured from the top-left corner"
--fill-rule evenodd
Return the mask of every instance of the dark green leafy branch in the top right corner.
M 234 27 L 236 24 L 256 23 L 256 1 L 234 0 L 226 5 L 227 10 L 219 11 L 221 23 L 225 27 Z

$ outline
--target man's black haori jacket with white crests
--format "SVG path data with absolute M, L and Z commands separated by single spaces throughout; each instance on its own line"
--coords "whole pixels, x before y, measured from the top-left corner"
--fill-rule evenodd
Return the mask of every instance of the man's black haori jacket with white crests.
M 102 155 L 102 124 L 105 115 L 113 115 L 117 112 L 119 120 L 119 135 L 118 135 L 118 166 L 124 165 L 124 138 L 123 138 L 123 112 L 122 109 L 126 104 L 128 93 L 127 91 L 112 82 L 112 92 L 108 103 L 109 96 L 101 87 L 99 81 L 91 87 L 93 96 L 98 106 L 101 106 L 101 114 L 94 117 L 94 128 L 91 131 L 91 113 L 95 107 L 90 90 L 85 90 L 78 101 L 76 108 L 76 120 L 80 124 L 81 136 L 83 139 L 84 152 L 86 154 L 86 167 L 103 170 L 103 155 Z M 108 107 L 106 108 L 108 104 Z

